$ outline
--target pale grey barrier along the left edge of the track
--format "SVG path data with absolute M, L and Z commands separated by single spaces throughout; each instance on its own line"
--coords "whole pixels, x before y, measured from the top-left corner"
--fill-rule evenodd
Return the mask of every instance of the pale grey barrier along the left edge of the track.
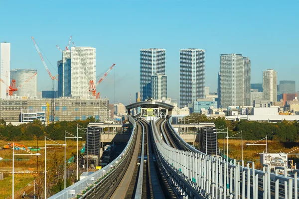
M 132 141 L 134 138 L 136 122 L 132 116 L 129 117 L 130 123 L 133 124 L 132 134 L 127 146 L 123 152 L 107 166 L 103 167 L 99 171 L 89 175 L 88 177 L 80 180 L 79 182 L 71 185 L 70 187 L 62 190 L 61 192 L 53 195 L 49 199 L 71 199 L 71 198 L 82 198 L 88 193 L 90 193 L 97 185 L 101 183 L 102 180 L 109 178 L 112 172 L 119 166 L 119 164 L 127 156 L 127 152 L 131 148 Z

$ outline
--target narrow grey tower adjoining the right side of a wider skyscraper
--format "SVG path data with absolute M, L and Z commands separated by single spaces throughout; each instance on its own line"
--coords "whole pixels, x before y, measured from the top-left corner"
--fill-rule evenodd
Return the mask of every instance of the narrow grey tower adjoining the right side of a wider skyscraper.
M 243 57 L 244 70 L 244 105 L 250 105 L 250 88 L 251 88 L 251 61 L 248 57 Z

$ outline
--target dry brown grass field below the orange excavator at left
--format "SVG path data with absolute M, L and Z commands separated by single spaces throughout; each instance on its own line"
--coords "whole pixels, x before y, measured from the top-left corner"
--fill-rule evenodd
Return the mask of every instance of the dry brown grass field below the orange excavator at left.
M 56 140 L 56 142 L 63 144 L 64 140 Z M 19 141 L 17 142 L 19 144 L 24 144 L 27 147 L 36 147 L 36 141 Z M 83 141 L 79 141 L 79 150 L 82 148 L 82 144 L 85 143 Z M 11 171 L 12 170 L 12 149 L 2 149 L 3 145 L 6 145 L 7 142 L 0 141 L 0 157 L 3 158 L 3 160 L 0 161 L 0 171 Z M 51 144 L 51 141 L 47 141 L 47 144 Z M 53 143 L 55 144 L 55 143 Z M 75 153 L 77 150 L 77 142 L 74 140 L 67 140 L 66 141 L 66 159 L 69 159 L 72 155 L 72 153 Z M 43 169 L 44 167 L 44 147 L 45 147 L 45 141 L 39 140 L 38 141 L 38 147 L 41 147 L 40 153 L 41 155 L 38 157 L 38 169 Z M 15 150 L 15 153 L 26 153 L 25 151 L 21 150 Z M 34 151 L 30 151 L 31 153 L 37 153 Z M 64 158 L 64 147 L 59 146 L 47 146 L 47 157 L 53 152 L 56 152 L 56 155 L 58 158 Z M 28 153 L 29 154 L 29 153 Z M 28 170 L 29 168 L 36 169 L 36 156 L 33 155 L 15 155 L 14 157 L 14 168 L 15 171 L 19 170 Z

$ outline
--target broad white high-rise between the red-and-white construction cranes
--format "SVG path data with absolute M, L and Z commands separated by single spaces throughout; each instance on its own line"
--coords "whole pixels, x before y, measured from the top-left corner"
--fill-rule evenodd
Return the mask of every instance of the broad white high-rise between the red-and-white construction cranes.
M 71 47 L 71 96 L 93 99 L 91 80 L 96 82 L 96 48 Z

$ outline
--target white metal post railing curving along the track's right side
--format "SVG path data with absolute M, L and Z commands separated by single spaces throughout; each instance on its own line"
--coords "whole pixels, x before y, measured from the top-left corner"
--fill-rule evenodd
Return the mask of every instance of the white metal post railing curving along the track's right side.
M 171 127 L 170 123 L 169 125 Z M 295 178 L 291 178 L 270 173 L 268 166 L 267 172 L 256 170 L 254 162 L 248 162 L 247 167 L 244 167 L 243 161 L 228 162 L 228 159 L 210 156 L 198 150 L 174 149 L 162 141 L 153 120 L 151 126 L 152 132 L 155 132 L 153 133 L 154 144 L 161 158 L 160 161 L 176 180 L 175 185 L 180 187 L 182 195 L 217 199 L 227 197 L 297 199 L 298 197 L 299 170 L 295 170 Z M 177 133 L 174 132 L 174 135 Z M 179 139 L 179 136 L 176 137 Z M 183 140 L 180 142 L 184 143 Z

